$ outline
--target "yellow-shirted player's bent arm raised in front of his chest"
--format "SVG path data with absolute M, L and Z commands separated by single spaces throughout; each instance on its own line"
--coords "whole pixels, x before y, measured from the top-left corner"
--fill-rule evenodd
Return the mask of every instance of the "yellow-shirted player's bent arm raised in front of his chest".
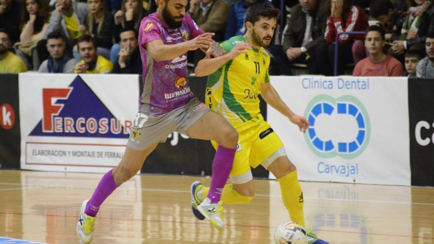
M 196 76 L 206 76 L 216 72 L 222 65 L 228 62 L 231 59 L 236 58 L 238 55 L 242 53 L 247 53 L 246 49 L 252 49 L 252 46 L 249 43 L 238 43 L 232 50 L 222 56 L 217 58 L 206 57 L 199 61 L 194 69 L 194 73 Z

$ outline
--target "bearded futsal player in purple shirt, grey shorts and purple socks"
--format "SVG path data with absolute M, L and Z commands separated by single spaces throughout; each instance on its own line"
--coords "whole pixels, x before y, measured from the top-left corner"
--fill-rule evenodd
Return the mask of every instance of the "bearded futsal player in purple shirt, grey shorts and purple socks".
M 210 193 L 199 210 L 218 230 L 224 228 L 219 200 L 232 169 L 238 134 L 227 120 L 190 92 L 187 52 L 208 49 L 207 55 L 218 56 L 217 52 L 211 52 L 218 49 L 218 44 L 212 40 L 214 34 L 204 33 L 185 15 L 186 5 L 187 0 L 158 0 L 157 12 L 141 22 L 139 44 L 144 87 L 141 108 L 124 157 L 103 176 L 92 197 L 82 203 L 77 223 L 77 236 L 82 244 L 92 241 L 95 216 L 106 198 L 134 176 L 157 144 L 174 131 L 194 139 L 215 140 L 220 145 L 213 160 Z

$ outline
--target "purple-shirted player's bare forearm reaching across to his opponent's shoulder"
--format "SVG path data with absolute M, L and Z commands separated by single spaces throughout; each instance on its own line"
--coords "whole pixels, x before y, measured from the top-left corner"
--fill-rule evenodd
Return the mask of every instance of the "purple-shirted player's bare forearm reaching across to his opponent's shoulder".
M 214 33 L 204 33 L 196 36 L 194 39 L 184 41 L 178 44 L 164 44 L 161 39 L 147 42 L 146 50 L 151 54 L 152 58 L 157 61 L 172 60 L 182 54 L 196 50 L 198 48 L 208 47 L 213 43 Z

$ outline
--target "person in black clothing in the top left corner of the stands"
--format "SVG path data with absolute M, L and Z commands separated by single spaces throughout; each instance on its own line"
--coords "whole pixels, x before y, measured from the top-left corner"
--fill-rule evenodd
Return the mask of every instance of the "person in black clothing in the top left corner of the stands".
M 12 45 L 20 38 L 22 1 L 0 0 L 0 28 L 9 33 Z

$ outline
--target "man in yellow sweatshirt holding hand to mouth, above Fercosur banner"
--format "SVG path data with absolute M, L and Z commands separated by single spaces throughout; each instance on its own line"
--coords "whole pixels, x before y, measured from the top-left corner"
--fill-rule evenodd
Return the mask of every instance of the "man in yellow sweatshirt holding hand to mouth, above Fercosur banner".
M 97 55 L 95 41 L 90 35 L 82 35 L 77 41 L 82 60 L 75 65 L 74 73 L 107 74 L 113 65 L 103 56 Z

